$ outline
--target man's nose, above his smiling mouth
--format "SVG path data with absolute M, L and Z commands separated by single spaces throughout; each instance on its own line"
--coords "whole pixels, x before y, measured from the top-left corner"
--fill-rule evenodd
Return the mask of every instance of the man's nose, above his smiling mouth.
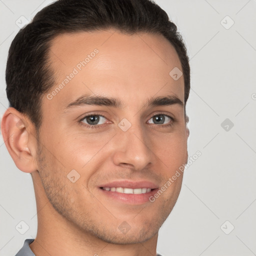
M 150 138 L 139 125 L 132 125 L 128 130 L 117 131 L 115 136 L 113 162 L 115 165 L 141 170 L 152 163 L 153 153 Z

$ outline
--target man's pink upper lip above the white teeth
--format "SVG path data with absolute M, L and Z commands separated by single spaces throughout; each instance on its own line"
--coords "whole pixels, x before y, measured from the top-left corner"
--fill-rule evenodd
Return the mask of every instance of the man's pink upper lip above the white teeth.
M 107 182 L 104 184 L 99 185 L 99 187 L 127 187 L 127 188 L 157 188 L 158 186 L 151 181 L 148 180 L 116 180 L 116 181 L 111 181 Z

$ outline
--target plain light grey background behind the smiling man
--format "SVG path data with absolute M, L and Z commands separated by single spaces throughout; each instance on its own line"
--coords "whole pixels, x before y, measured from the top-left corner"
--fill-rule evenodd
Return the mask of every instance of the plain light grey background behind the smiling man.
M 4 72 L 19 30 L 15 22 L 20 16 L 30 20 L 50 2 L 0 0 L 0 117 L 8 106 Z M 188 152 L 201 152 L 185 170 L 179 198 L 159 231 L 157 251 L 164 256 L 256 255 L 256 1 L 156 3 L 187 45 Z M 15 166 L 2 137 L 0 162 L 0 255 L 9 256 L 25 238 L 36 236 L 36 207 L 30 174 Z M 24 234 L 15 229 L 21 220 L 29 226 Z

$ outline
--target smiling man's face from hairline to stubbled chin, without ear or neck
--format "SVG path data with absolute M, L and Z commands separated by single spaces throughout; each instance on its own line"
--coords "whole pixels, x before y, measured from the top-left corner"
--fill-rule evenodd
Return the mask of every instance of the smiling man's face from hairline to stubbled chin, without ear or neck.
M 148 198 L 187 160 L 184 106 L 147 105 L 164 96 L 184 103 L 183 77 L 169 75 L 182 70 L 177 53 L 160 35 L 80 32 L 56 37 L 50 62 L 56 82 L 42 98 L 37 161 L 47 198 L 74 226 L 105 241 L 149 239 L 172 210 L 182 173 Z M 121 106 L 70 104 L 85 95 Z

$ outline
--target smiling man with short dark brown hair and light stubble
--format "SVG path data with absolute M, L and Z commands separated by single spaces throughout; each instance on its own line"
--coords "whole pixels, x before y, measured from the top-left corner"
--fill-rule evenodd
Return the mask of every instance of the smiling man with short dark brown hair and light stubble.
M 13 39 L 1 131 L 31 173 L 20 255 L 156 255 L 187 161 L 189 64 L 149 0 L 58 0 Z

